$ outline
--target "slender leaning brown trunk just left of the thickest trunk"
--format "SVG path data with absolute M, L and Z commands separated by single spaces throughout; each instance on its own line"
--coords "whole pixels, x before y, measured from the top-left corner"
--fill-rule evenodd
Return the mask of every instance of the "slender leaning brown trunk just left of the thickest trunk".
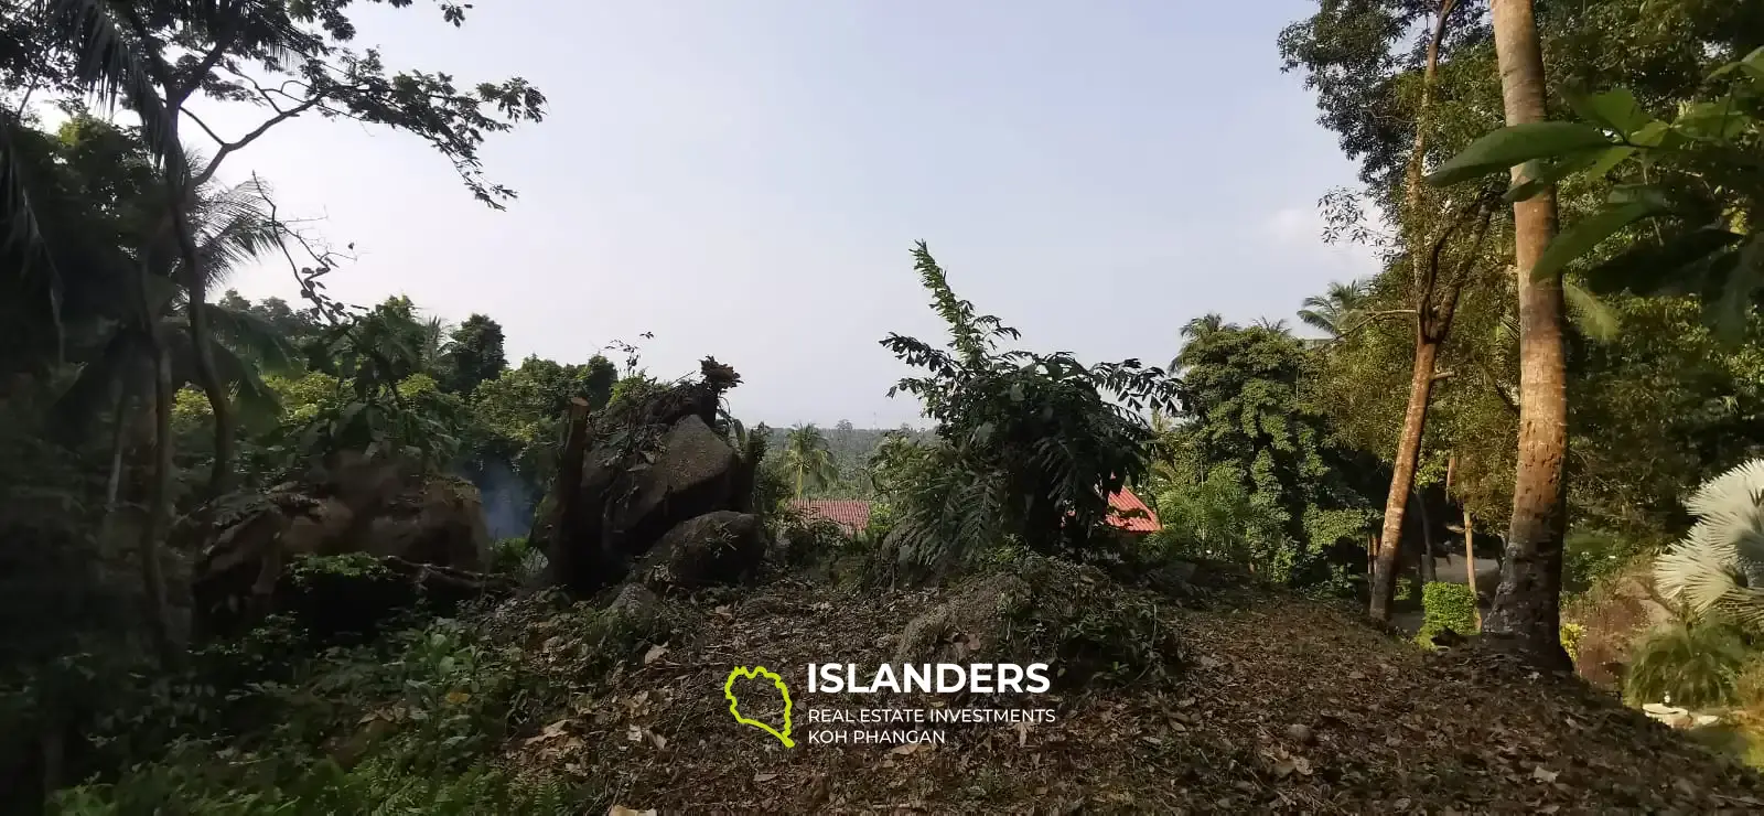
M 1404 178 L 1402 196 L 1402 233 L 1411 263 L 1415 265 L 1415 364 L 1409 376 L 1409 404 L 1402 412 L 1402 433 L 1397 438 L 1397 459 L 1390 472 L 1390 491 L 1385 495 L 1385 533 L 1372 567 L 1372 620 L 1390 620 L 1390 602 L 1397 592 L 1397 553 L 1402 549 L 1402 510 L 1409 491 L 1415 487 L 1415 466 L 1420 461 L 1422 433 L 1427 426 L 1427 401 L 1432 397 L 1434 362 L 1439 357 L 1439 343 L 1445 332 L 1429 330 L 1429 313 L 1432 311 L 1432 284 L 1438 276 L 1431 274 L 1429 263 L 1438 263 L 1438 254 L 1422 251 L 1422 168 L 1427 161 L 1427 129 L 1431 127 L 1432 92 L 1439 79 L 1439 42 L 1445 39 L 1446 21 L 1457 0 L 1441 0 L 1439 14 L 1434 19 L 1432 37 L 1427 41 L 1427 65 L 1422 72 L 1422 97 L 1415 110 L 1415 150 Z M 1448 323 L 1450 306 L 1445 313 Z

